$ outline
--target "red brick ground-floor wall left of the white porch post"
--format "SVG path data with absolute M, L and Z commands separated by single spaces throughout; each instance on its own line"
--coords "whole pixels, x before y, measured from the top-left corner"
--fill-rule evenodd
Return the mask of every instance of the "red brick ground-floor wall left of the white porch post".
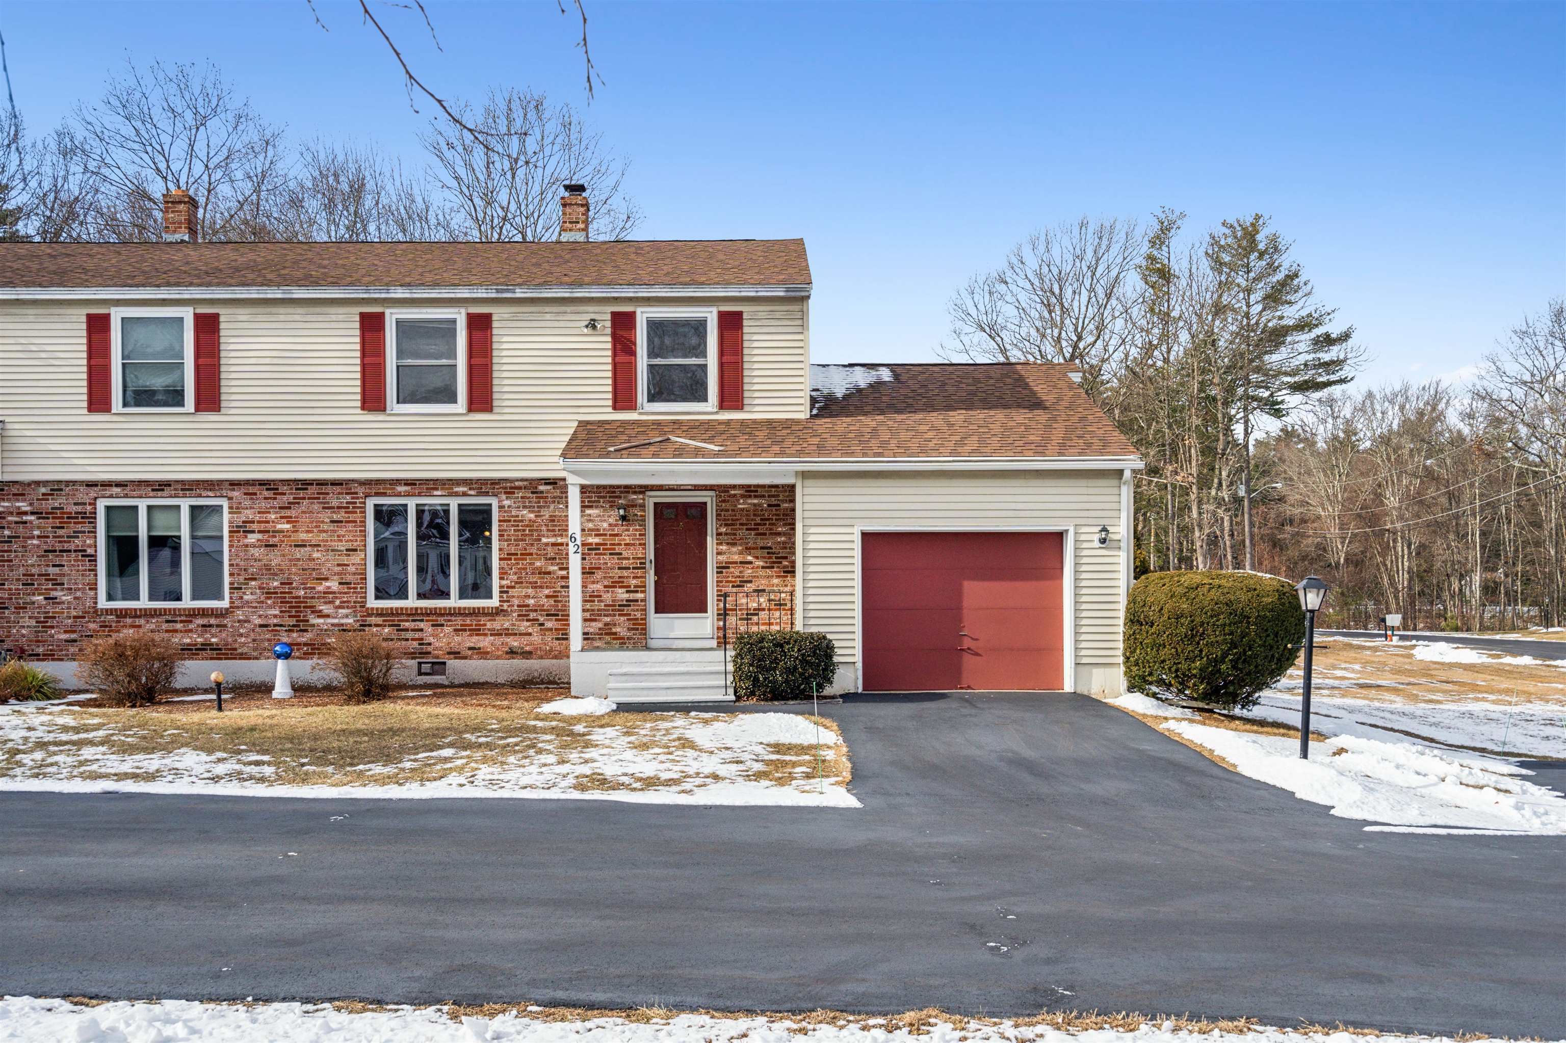
M 495 496 L 498 608 L 366 608 L 370 496 Z M 97 606 L 99 498 L 229 501 L 229 606 Z M 565 482 L 221 481 L 0 485 L 0 647 L 75 659 L 125 630 L 174 637 L 191 659 L 257 659 L 290 641 L 301 659 L 345 630 L 374 630 L 404 658 L 570 658 Z

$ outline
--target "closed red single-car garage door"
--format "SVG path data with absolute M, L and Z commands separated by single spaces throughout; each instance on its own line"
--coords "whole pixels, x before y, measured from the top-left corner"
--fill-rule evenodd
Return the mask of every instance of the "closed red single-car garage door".
M 1065 688 L 1060 532 L 864 532 L 864 691 Z

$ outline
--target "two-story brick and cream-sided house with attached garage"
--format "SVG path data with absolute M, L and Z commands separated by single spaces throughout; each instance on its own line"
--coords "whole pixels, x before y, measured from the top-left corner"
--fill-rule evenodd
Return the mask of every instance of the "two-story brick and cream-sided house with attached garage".
M 172 636 L 268 678 L 1117 691 L 1134 448 L 1059 365 L 810 363 L 799 240 L 0 244 L 0 648 Z

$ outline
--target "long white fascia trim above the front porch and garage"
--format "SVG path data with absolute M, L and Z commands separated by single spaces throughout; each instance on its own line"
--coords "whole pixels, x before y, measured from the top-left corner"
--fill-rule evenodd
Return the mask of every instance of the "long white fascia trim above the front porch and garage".
M 1082 457 L 827 457 L 750 460 L 570 460 L 570 481 L 586 485 L 786 485 L 799 471 L 1123 471 L 1142 470 L 1135 456 Z

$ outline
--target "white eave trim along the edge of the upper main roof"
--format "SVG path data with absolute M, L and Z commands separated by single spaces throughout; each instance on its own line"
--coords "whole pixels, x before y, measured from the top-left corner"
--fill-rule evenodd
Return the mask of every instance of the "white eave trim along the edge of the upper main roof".
M 346 298 L 808 298 L 797 285 L 592 285 L 592 287 L 0 287 L 0 301 L 161 301 L 263 299 L 309 301 Z

